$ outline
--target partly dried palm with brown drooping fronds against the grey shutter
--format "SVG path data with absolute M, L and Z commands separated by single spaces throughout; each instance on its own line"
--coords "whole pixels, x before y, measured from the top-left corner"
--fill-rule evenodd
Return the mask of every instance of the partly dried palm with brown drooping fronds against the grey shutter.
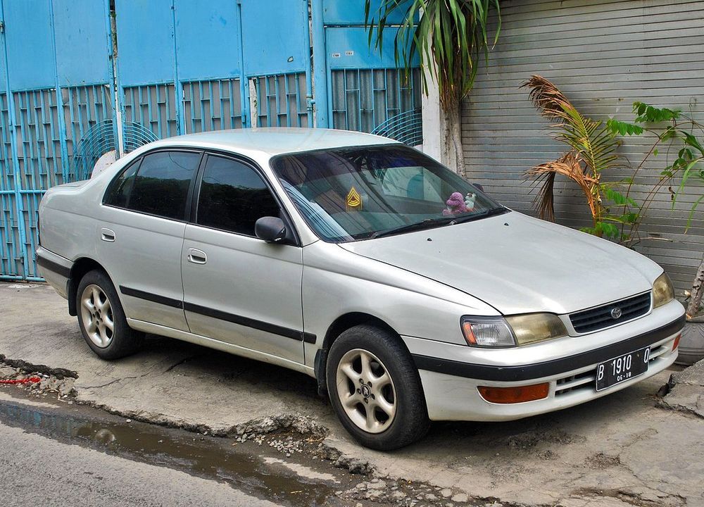
M 616 152 L 619 143 L 612 127 L 582 115 L 545 77 L 533 75 L 521 87 L 530 89 L 529 98 L 536 109 L 553 121 L 550 128 L 555 132 L 555 139 L 568 148 L 557 160 L 536 165 L 526 172 L 527 177 L 542 182 L 535 201 L 540 218 L 554 220 L 553 187 L 555 176 L 562 175 L 579 185 L 591 211 L 592 226 L 582 230 L 599 237 L 626 239 L 622 226 L 636 223 L 640 209 L 634 199 L 620 192 L 620 187 L 631 184 L 632 180 L 601 180 L 604 171 L 624 166 Z

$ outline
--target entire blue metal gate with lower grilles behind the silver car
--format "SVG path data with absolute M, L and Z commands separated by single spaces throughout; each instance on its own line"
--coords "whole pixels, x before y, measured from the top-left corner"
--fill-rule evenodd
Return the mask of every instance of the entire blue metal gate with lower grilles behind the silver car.
M 341 0 L 0 0 L 0 280 L 41 280 L 42 195 L 89 177 L 109 151 L 255 126 L 417 144 L 419 74 L 396 69 L 393 44 L 381 55 L 368 49 L 362 9 Z

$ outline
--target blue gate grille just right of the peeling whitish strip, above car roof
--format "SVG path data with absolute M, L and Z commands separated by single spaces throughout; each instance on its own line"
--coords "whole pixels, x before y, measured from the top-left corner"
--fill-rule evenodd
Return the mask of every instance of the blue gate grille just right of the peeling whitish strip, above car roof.
M 306 73 L 253 77 L 249 92 L 256 96 L 258 127 L 308 127 Z

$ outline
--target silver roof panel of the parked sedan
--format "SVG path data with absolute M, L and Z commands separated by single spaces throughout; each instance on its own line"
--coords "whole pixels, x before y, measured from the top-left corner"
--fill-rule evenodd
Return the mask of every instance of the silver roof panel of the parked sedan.
M 323 128 L 246 128 L 217 130 L 186 134 L 156 141 L 149 146 L 201 146 L 240 151 L 258 152 L 267 156 L 339 148 L 342 146 L 368 146 L 397 143 L 394 139 L 349 130 Z

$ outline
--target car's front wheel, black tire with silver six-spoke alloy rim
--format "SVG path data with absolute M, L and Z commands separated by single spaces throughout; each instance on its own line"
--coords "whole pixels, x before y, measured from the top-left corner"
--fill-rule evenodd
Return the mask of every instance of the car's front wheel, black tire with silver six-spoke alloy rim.
M 420 375 L 391 332 L 372 325 L 346 330 L 330 347 L 325 376 L 340 422 L 363 446 L 391 451 L 427 433 Z

